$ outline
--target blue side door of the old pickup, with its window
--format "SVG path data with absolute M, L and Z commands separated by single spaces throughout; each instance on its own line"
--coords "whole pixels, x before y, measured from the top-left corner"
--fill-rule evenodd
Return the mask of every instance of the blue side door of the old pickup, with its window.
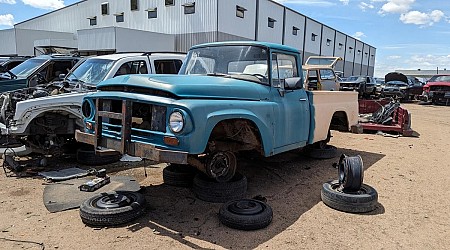
M 285 52 L 272 53 L 275 153 L 303 146 L 308 140 L 310 108 L 303 84 L 297 89 L 285 88 L 284 79 L 299 77 L 296 58 Z

